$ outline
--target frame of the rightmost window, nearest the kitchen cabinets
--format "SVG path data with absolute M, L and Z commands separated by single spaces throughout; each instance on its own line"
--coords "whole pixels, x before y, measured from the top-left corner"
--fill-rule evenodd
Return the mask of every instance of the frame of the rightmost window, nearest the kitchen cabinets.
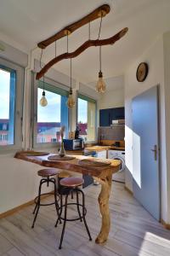
M 81 93 L 81 92 L 77 92 L 77 123 L 78 123 L 78 98 L 81 98 L 82 100 L 85 100 L 85 101 L 88 101 L 88 102 L 94 102 L 95 103 L 95 123 L 94 123 L 94 126 L 95 126 L 95 136 L 94 136 L 94 140 L 93 141 L 85 141 L 85 144 L 86 143 L 96 143 L 97 142 L 97 107 L 98 107 L 98 102 L 97 100 L 95 100 L 94 98 L 92 97 L 89 97 L 87 95 L 85 95 L 84 93 Z

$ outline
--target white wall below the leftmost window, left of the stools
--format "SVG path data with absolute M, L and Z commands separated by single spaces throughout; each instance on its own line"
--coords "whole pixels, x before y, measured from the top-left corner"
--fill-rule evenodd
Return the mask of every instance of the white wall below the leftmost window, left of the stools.
M 14 159 L 14 154 L 0 155 L 0 213 L 18 207 L 37 196 L 42 167 Z M 43 187 L 42 192 L 54 190 Z

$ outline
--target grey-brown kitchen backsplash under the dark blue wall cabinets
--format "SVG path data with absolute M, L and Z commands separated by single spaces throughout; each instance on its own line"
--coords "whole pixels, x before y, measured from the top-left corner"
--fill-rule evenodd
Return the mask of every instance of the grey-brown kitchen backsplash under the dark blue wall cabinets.
M 98 142 L 100 142 L 101 140 L 123 141 L 124 137 L 125 137 L 124 125 L 98 128 Z

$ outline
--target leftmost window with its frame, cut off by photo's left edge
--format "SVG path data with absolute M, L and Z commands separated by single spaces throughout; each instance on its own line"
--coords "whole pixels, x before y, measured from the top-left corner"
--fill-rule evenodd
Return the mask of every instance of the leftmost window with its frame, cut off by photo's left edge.
M 24 69 L 0 58 L 0 151 L 21 148 Z

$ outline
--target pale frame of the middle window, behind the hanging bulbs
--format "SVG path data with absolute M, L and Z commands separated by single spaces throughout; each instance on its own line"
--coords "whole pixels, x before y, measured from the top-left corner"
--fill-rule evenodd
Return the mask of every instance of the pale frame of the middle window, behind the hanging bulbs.
M 41 86 L 39 88 L 42 88 L 42 80 L 37 80 L 36 79 L 36 73 L 33 73 L 33 77 L 34 77 L 34 81 L 33 81 L 33 108 L 31 109 L 31 115 L 33 116 L 33 119 L 31 119 L 31 122 L 33 123 L 31 125 L 32 127 L 32 135 L 31 135 L 31 141 L 32 141 L 32 148 L 58 148 L 60 143 L 56 143 L 56 142 L 52 142 L 52 143 L 37 143 L 37 89 L 38 89 L 38 85 L 39 83 L 41 84 Z M 59 82 L 54 81 L 53 79 L 48 79 L 47 77 L 44 77 L 44 82 L 47 83 L 48 86 L 48 90 L 50 89 L 51 92 L 54 93 L 58 93 L 59 91 L 65 94 L 65 96 L 69 95 L 69 88 L 64 85 L 64 84 L 60 84 Z M 46 86 L 45 86 L 45 90 L 46 90 Z M 70 124 L 71 124 L 71 119 L 70 119 L 70 109 L 68 111 L 68 131 L 70 128 Z

